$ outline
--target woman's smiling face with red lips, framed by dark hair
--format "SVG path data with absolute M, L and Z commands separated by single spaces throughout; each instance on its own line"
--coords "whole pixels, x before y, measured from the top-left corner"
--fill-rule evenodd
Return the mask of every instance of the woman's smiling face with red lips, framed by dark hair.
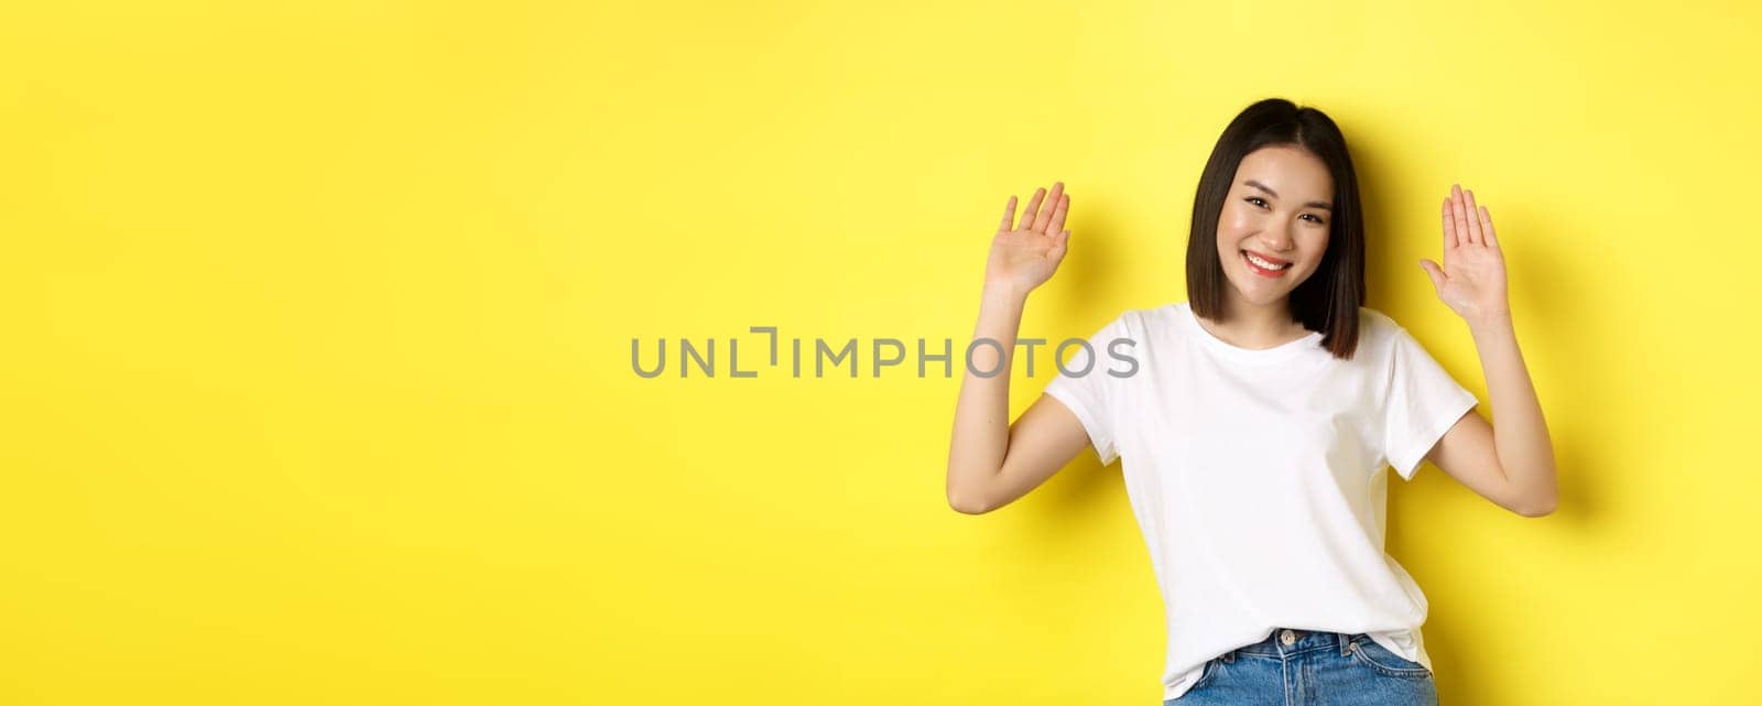
M 1242 157 L 1218 215 L 1218 261 L 1235 296 L 1272 305 L 1307 280 L 1327 252 L 1332 204 L 1334 176 L 1307 150 L 1281 144 Z

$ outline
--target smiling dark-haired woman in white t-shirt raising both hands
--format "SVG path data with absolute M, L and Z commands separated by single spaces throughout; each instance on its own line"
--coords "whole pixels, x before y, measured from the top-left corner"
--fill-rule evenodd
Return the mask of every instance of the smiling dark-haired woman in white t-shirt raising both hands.
M 1045 201 L 1043 201 L 1045 197 Z M 1517 349 L 1492 217 L 1443 199 L 1443 264 L 1420 261 L 1475 338 L 1498 433 L 1406 329 L 1364 306 L 1364 211 L 1327 114 L 1269 99 L 1218 139 L 1188 239 L 1188 301 L 1128 310 L 1008 419 L 1027 294 L 1064 259 L 1070 194 L 1015 197 L 992 241 L 955 407 L 948 500 L 1003 507 L 1085 445 L 1124 460 L 1166 607 L 1163 699 L 1436 704 L 1425 595 L 1383 551 L 1387 468 L 1433 461 L 1526 518 L 1554 456 Z M 1112 364 L 1096 352 L 1112 354 Z M 1128 361 L 1121 364 L 1119 361 Z M 974 370 L 999 370 L 980 377 Z

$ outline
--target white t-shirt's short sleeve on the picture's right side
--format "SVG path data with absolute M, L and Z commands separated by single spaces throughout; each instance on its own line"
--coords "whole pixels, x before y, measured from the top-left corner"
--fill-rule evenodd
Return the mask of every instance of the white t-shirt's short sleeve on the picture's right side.
M 1383 456 L 1403 481 L 1411 481 L 1433 445 L 1457 419 L 1462 419 L 1462 414 L 1475 408 L 1478 400 L 1403 327 L 1394 331 L 1388 364 Z

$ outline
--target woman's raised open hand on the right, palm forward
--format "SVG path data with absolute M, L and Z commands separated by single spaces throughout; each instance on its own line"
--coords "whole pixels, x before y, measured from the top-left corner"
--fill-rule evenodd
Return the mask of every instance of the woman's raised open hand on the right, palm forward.
M 1505 296 L 1505 255 L 1492 232 L 1487 206 L 1475 204 L 1475 192 L 1450 187 L 1443 199 L 1443 266 L 1420 261 L 1438 298 L 1470 324 L 1510 313 Z

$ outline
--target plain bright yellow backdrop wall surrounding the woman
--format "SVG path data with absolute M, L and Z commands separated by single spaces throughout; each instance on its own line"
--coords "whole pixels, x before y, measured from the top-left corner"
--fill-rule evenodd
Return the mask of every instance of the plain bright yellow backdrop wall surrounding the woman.
M 957 514 L 959 379 L 862 347 L 964 345 L 1003 202 L 1054 180 L 1024 336 L 1184 299 L 1195 180 L 1265 95 L 1343 125 L 1371 306 L 1482 400 L 1415 262 L 1455 180 L 1507 250 L 1563 495 L 1392 482 L 1445 702 L 1757 699 L 1758 19 L 7 4 L 0 702 L 1154 702 L 1119 467 Z M 640 379 L 638 336 L 719 375 Z

